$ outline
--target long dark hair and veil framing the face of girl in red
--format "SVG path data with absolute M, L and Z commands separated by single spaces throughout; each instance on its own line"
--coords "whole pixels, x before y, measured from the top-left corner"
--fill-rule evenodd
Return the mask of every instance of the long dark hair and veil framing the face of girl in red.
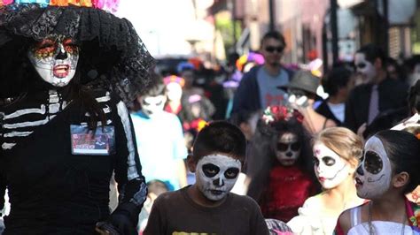
M 269 125 L 260 119 L 250 142 L 246 159 L 246 174 L 252 178 L 247 194 L 255 201 L 261 200 L 264 187 L 268 185 L 269 172 L 276 163 L 273 142 L 284 133 L 294 133 L 298 136 L 301 148 L 297 164 L 302 171 L 308 172 L 316 182 L 310 137 L 298 119 L 292 117 L 288 121 L 276 121 Z

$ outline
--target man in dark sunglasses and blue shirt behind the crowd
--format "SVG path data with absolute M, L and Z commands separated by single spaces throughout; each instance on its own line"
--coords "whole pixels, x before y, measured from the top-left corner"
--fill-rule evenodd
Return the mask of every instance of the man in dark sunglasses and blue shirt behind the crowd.
M 261 39 L 261 54 L 264 64 L 255 66 L 244 74 L 233 101 L 232 113 L 261 110 L 269 105 L 283 103 L 284 86 L 292 78 L 292 71 L 280 63 L 286 43 L 282 34 L 271 31 Z

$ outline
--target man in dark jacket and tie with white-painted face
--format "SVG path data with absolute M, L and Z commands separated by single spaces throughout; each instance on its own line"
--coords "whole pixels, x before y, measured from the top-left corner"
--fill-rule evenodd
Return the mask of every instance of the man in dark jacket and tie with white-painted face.
M 386 73 L 385 53 L 373 44 L 359 49 L 354 56 L 362 85 L 354 87 L 346 102 L 346 127 L 362 134 L 375 117 L 385 110 L 406 106 L 408 87 Z

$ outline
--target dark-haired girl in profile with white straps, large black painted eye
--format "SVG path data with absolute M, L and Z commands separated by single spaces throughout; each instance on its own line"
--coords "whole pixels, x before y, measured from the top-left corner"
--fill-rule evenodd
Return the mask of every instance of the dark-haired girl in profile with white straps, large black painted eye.
M 366 142 L 357 195 L 370 200 L 338 217 L 336 234 L 419 234 L 420 207 L 405 197 L 420 184 L 420 140 L 386 130 Z

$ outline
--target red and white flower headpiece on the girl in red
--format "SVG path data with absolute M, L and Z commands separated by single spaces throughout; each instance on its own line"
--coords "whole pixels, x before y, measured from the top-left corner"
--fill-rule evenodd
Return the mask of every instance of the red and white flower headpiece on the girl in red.
M 303 122 L 303 115 L 298 111 L 284 105 L 268 106 L 262 114 L 262 120 L 265 124 L 271 124 L 278 121 L 289 121 L 296 118 L 299 123 Z

